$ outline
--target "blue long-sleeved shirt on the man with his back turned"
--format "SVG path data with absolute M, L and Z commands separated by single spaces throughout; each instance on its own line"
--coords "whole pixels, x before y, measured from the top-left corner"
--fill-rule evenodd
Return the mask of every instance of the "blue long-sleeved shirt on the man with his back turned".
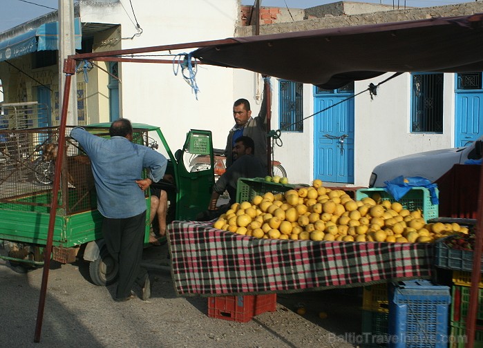
M 70 136 L 91 159 L 97 209 L 104 217 L 131 218 L 146 210 L 144 192 L 135 180 L 141 179 L 143 168 L 151 169 L 151 180 L 161 180 L 168 162 L 166 157 L 125 137 L 106 139 L 80 127 L 74 128 Z

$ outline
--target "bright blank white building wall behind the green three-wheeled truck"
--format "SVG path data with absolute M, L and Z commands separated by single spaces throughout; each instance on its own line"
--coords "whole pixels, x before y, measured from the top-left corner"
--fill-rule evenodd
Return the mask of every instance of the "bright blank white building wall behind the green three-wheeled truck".
M 234 36 L 238 16 L 237 0 L 144 0 L 133 3 L 138 30 L 129 1 L 123 6 L 100 9 L 93 3 L 84 4 L 81 20 L 91 23 L 120 23 L 122 48 L 142 48 L 176 43 L 188 43 Z M 132 39 L 130 39 L 132 37 Z M 126 39 L 128 38 L 128 39 Z M 190 52 L 193 49 L 182 50 Z M 173 54 L 176 52 L 172 51 Z M 169 52 L 153 54 L 168 55 Z M 153 57 L 151 57 L 153 58 Z M 172 56 L 155 57 L 173 59 Z M 133 122 L 161 126 L 172 151 L 181 148 L 189 129 L 213 132 L 214 145 L 225 146 L 227 131 L 232 126 L 233 72 L 215 66 L 199 66 L 196 83 L 200 89 L 198 100 L 191 87 L 173 73 L 172 64 L 122 63 L 122 116 Z M 108 122 L 104 115 L 101 122 Z

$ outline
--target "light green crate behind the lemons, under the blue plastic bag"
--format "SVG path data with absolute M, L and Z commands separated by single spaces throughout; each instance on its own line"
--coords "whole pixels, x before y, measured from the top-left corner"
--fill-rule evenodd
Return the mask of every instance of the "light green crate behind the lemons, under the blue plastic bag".
M 438 194 L 439 191 L 435 189 Z M 371 197 L 374 193 L 379 193 L 382 200 L 388 200 L 390 202 L 396 202 L 394 197 L 386 192 L 381 187 L 372 187 L 370 189 L 359 189 L 356 192 L 356 200 L 362 200 L 365 197 Z M 438 204 L 431 203 L 431 195 L 428 189 L 425 187 L 413 187 L 406 195 L 404 195 L 399 201 L 404 209 L 409 211 L 415 211 L 421 209 L 426 221 L 437 218 L 439 216 Z

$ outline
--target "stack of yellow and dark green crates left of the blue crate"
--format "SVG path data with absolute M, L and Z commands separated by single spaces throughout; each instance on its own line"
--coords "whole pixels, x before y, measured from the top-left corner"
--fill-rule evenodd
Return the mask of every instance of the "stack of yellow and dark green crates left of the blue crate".
M 387 347 L 388 338 L 388 284 L 363 287 L 362 292 L 362 348 Z

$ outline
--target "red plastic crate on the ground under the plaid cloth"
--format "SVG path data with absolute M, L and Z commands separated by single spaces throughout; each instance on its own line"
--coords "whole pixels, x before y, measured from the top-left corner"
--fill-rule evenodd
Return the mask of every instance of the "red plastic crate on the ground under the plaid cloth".
M 208 298 L 210 318 L 249 322 L 266 311 L 276 311 L 276 293 Z

